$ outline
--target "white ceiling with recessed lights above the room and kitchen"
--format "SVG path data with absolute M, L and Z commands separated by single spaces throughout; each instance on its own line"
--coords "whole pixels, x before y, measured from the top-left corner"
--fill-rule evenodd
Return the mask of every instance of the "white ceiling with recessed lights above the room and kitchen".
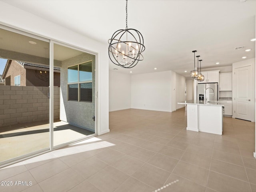
M 100 41 L 106 51 L 108 39 L 126 26 L 124 0 L 3 1 Z M 241 1 L 128 0 L 128 28 L 142 33 L 144 60 L 131 69 L 110 62 L 109 69 L 126 74 L 173 70 L 188 77 L 194 68 L 192 50 L 200 55 L 202 70 L 254 58 L 250 39 L 255 38 L 256 0 Z M 240 46 L 246 48 L 235 50 Z

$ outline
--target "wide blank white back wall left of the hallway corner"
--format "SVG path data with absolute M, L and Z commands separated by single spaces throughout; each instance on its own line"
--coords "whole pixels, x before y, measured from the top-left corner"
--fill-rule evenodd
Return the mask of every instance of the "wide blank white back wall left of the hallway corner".
M 171 71 L 132 75 L 132 108 L 171 112 Z

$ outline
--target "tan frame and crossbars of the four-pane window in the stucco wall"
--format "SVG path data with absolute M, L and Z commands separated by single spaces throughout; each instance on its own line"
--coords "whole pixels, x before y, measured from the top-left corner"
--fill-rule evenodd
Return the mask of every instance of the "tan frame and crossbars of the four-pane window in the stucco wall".
M 92 60 L 88 60 L 88 61 L 86 61 L 86 62 L 82 62 L 82 63 L 79 63 L 79 64 L 75 64 L 75 65 L 71 65 L 71 66 L 68 66 L 67 67 L 67 99 L 68 99 L 68 101 L 74 101 L 74 102 L 88 102 L 88 103 L 92 103 L 92 101 L 81 101 L 80 99 L 80 84 L 83 84 L 83 83 L 92 83 L 92 80 L 90 80 L 90 81 L 79 81 L 79 69 L 80 69 L 80 65 L 81 64 L 86 64 L 86 63 L 91 63 L 91 65 L 92 65 Z M 72 82 L 72 83 L 68 83 L 68 68 L 70 68 L 70 67 L 73 67 L 73 66 L 78 66 L 78 70 L 77 70 L 77 73 L 78 73 L 78 76 L 77 76 L 77 82 Z M 92 65 L 93 66 L 93 65 Z M 93 70 L 92 70 L 93 71 Z M 69 85 L 71 85 L 71 84 L 78 84 L 78 100 L 69 100 Z M 92 85 L 92 89 L 93 89 L 93 85 Z M 93 97 L 92 97 L 93 98 Z

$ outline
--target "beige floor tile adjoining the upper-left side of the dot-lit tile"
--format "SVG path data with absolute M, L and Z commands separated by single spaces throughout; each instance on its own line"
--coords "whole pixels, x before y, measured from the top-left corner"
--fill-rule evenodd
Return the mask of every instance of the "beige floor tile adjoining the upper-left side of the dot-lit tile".
M 152 188 L 157 189 L 163 186 L 164 182 L 170 176 L 170 172 L 146 163 L 132 176 L 140 180 L 141 182 L 144 182 L 145 184 L 151 186 Z

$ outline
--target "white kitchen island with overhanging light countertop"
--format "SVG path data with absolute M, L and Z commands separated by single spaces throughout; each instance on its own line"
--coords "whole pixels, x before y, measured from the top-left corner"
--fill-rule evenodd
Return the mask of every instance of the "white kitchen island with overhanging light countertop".
M 187 106 L 187 130 L 222 135 L 223 102 L 179 102 Z

